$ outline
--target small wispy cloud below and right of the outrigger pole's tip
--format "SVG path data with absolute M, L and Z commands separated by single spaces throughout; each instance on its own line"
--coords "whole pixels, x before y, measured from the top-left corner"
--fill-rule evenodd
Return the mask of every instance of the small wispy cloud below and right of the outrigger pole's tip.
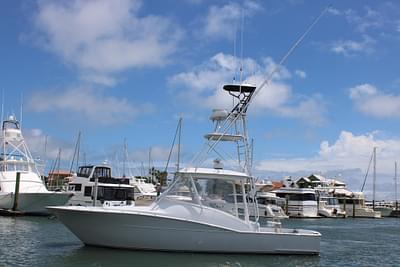
M 339 40 L 330 44 L 330 51 L 344 56 L 370 54 L 374 51 L 376 41 L 368 35 L 363 35 L 362 41 Z

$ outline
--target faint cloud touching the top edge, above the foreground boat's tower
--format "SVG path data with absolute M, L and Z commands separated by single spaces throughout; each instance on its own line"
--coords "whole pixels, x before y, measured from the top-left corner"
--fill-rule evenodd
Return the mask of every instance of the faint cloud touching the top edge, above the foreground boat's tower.
M 213 38 L 234 39 L 242 16 L 250 16 L 260 9 L 261 6 L 254 1 L 245 1 L 243 5 L 231 2 L 224 6 L 211 6 L 204 21 L 203 34 Z

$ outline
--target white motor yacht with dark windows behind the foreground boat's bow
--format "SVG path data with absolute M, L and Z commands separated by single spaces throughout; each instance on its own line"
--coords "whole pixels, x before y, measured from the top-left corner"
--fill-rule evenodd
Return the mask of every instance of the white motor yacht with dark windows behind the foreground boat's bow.
M 74 194 L 68 205 L 134 205 L 134 187 L 129 185 L 129 179 L 113 178 L 110 166 L 80 166 L 78 172 L 68 179 L 68 191 Z

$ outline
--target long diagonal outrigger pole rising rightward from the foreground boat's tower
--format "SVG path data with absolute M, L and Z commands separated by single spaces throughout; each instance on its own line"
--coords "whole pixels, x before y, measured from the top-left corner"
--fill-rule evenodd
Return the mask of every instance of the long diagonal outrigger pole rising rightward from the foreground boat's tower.
M 314 28 L 314 26 L 320 21 L 320 19 L 326 14 L 326 12 L 331 8 L 331 5 L 328 5 L 324 10 L 321 11 L 319 16 L 307 27 L 307 29 L 304 31 L 304 33 L 296 40 L 296 42 L 290 47 L 290 49 L 287 51 L 287 53 L 282 57 L 282 59 L 279 61 L 279 63 L 274 67 L 274 69 L 268 74 L 268 76 L 265 78 L 265 80 L 260 84 L 260 86 L 253 91 L 249 98 L 247 103 L 245 103 L 242 108 L 239 110 L 239 112 L 234 113 L 231 112 L 228 116 L 228 118 L 225 120 L 225 122 L 221 125 L 221 129 L 223 130 L 223 133 L 216 139 L 216 140 L 209 140 L 206 144 L 207 152 L 206 154 L 210 153 L 210 151 L 214 150 L 215 146 L 221 141 L 222 137 L 226 135 L 228 130 L 232 127 L 232 125 L 238 120 L 239 117 L 241 117 L 246 111 L 250 103 L 253 101 L 254 97 L 259 94 L 259 92 L 269 83 L 271 82 L 273 76 L 280 71 L 281 67 L 283 64 L 286 62 L 286 60 L 289 58 L 289 56 L 296 50 L 296 48 L 303 42 L 304 38 L 308 35 L 308 33 Z M 235 108 L 233 109 L 235 110 Z M 204 151 L 204 150 L 202 150 Z M 197 160 L 200 160 L 202 151 L 197 154 L 197 156 L 194 157 L 192 160 L 192 163 L 196 162 Z M 200 160 L 200 163 L 202 163 L 205 159 Z

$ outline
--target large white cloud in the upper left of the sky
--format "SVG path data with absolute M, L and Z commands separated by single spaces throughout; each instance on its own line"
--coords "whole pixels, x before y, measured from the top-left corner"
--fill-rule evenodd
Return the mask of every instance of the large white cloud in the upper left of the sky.
M 162 66 L 182 31 L 168 18 L 139 16 L 140 8 L 138 0 L 40 1 L 34 25 L 46 49 L 85 74 Z

